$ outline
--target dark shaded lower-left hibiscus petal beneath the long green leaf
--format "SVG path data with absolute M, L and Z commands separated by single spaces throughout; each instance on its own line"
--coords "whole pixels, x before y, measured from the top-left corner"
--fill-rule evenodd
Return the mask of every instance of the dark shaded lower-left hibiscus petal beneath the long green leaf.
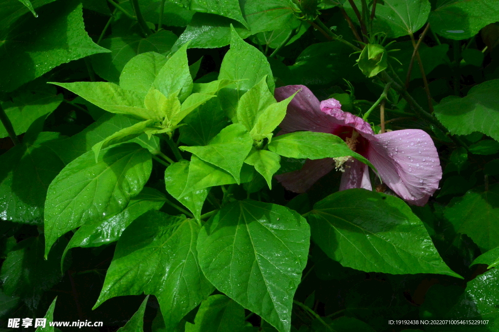
M 329 173 L 334 168 L 333 165 L 333 158 L 308 159 L 300 170 L 276 175 L 275 178 L 287 190 L 304 193 L 317 180 Z

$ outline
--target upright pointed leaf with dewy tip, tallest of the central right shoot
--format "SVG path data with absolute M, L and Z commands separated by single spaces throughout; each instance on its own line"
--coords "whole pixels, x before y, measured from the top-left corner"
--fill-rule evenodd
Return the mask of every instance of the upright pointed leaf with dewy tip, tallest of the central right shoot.
M 219 79 L 238 81 L 219 92 L 222 107 L 231 119 L 237 119 L 238 101 L 241 96 L 265 75 L 268 75 L 268 88 L 270 93 L 273 93 L 273 76 L 267 59 L 259 50 L 246 43 L 232 27 L 231 49 L 222 61 L 219 75 Z

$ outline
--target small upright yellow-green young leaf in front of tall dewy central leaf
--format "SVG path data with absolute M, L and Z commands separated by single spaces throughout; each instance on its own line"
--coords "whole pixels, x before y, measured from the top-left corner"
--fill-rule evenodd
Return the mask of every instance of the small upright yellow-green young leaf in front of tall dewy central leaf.
M 258 115 L 268 106 L 276 103 L 274 96 L 268 90 L 266 80 L 267 75 L 264 75 L 239 100 L 237 108 L 238 122 L 242 123 L 248 131 L 253 129 Z

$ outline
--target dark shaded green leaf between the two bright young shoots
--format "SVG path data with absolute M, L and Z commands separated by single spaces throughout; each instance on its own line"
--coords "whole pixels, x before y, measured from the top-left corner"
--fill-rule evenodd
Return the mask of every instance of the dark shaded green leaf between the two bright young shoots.
M 196 85 L 196 83 L 195 83 Z M 207 145 L 230 124 L 218 98 L 208 100 L 184 118 L 180 141 L 187 145 Z

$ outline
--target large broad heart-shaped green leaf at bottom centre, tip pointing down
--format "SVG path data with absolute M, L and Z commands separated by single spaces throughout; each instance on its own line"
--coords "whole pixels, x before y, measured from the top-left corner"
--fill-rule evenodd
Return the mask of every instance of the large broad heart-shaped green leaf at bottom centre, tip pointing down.
M 309 236 L 305 219 L 286 207 L 234 202 L 201 229 L 199 263 L 219 291 L 285 332 Z

